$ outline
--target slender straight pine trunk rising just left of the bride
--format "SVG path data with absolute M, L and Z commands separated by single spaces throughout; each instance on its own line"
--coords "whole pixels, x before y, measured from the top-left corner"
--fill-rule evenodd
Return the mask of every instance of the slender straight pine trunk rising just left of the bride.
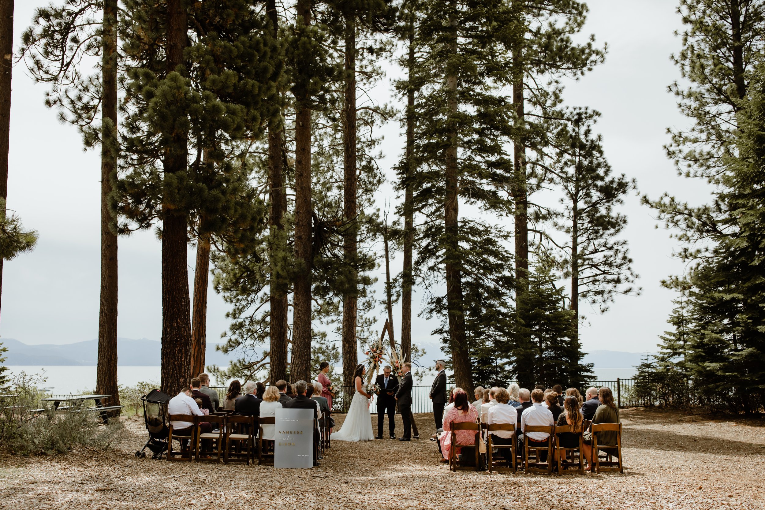
M 345 104 L 343 105 L 343 258 L 349 284 L 343 293 L 343 385 L 353 386 L 358 363 L 356 314 L 356 18 L 345 15 Z

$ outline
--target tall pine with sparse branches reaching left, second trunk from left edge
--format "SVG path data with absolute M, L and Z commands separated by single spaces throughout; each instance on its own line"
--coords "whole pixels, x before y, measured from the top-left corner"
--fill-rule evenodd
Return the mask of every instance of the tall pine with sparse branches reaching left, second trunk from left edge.
M 99 21 L 100 15 L 100 21 Z M 110 225 L 109 195 L 116 171 L 117 0 L 66 0 L 37 9 L 21 37 L 21 54 L 34 80 L 50 83 L 46 104 L 80 128 L 86 148 L 101 148 L 101 289 L 96 391 L 112 395 L 117 385 L 117 236 Z M 100 57 L 100 73 L 83 76 L 83 59 Z M 98 117 L 100 115 L 100 123 Z

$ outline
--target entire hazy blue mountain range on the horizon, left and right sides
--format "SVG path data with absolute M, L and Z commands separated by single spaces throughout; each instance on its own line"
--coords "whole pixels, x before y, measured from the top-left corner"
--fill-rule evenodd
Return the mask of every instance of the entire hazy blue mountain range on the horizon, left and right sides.
M 0 339 L 8 352 L 5 353 L 5 365 L 96 365 L 98 359 L 98 340 L 86 340 L 85 342 L 67 343 L 63 345 L 39 344 L 29 346 L 11 338 Z M 234 356 L 226 356 L 223 352 L 215 350 L 216 343 L 207 343 L 205 353 L 206 365 L 228 366 Z M 418 343 L 425 348 L 424 365 L 430 365 L 431 360 L 443 356 L 441 346 L 436 343 Z M 160 365 L 161 344 L 157 340 L 149 339 L 117 339 L 117 362 L 123 366 L 158 366 Z M 363 353 L 359 352 L 359 359 L 364 359 Z M 594 350 L 584 356 L 583 362 L 593 363 L 599 369 L 623 369 L 639 365 L 640 360 L 646 356 L 641 352 L 622 352 Z

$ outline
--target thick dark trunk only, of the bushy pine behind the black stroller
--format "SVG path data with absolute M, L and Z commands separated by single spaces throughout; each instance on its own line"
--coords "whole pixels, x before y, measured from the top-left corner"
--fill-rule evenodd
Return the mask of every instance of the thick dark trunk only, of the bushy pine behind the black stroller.
M 168 0 L 167 72 L 183 63 L 187 15 L 184 0 Z M 164 156 L 166 174 L 187 171 L 187 133 L 177 132 Z M 188 214 L 176 204 L 162 204 L 162 368 L 161 389 L 175 395 L 188 385 L 191 370 L 191 328 L 186 247 Z

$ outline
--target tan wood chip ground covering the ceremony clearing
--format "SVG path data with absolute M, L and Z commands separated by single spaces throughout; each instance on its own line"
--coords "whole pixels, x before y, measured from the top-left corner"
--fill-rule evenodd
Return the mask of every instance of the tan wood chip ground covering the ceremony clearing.
M 584 476 L 450 473 L 428 440 L 431 414 L 418 415 L 421 439 L 411 443 L 334 441 L 321 467 L 279 470 L 136 458 L 147 434 L 132 417 L 128 434 L 106 452 L 2 454 L 0 508 L 765 508 L 763 421 L 640 409 L 621 415 L 624 474 Z

